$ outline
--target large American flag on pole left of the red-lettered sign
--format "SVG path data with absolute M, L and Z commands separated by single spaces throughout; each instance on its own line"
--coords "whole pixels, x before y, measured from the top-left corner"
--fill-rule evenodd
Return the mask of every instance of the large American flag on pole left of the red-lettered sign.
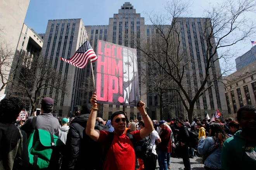
M 92 46 L 90 45 L 89 41 L 85 41 L 83 45 L 74 53 L 73 57 L 71 59 L 67 60 L 61 57 L 63 61 L 66 61 L 67 63 L 76 66 L 78 68 L 85 68 L 85 66 L 88 64 L 88 60 L 91 59 L 91 62 L 97 60 L 97 56 L 95 52 L 92 49 Z

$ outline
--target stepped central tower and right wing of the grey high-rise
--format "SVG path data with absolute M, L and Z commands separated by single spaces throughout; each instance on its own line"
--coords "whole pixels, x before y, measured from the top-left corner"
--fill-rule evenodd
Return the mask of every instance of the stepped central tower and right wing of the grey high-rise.
M 183 42 L 183 49 L 190 55 L 190 68 L 188 68 L 190 71 L 187 71 L 187 76 L 188 80 L 190 80 L 190 82 L 188 82 L 190 85 L 188 91 L 192 89 L 191 93 L 196 92 L 198 88 L 201 87 L 201 77 L 205 76 L 207 44 L 203 41 L 204 28 L 202 24 L 204 22 L 206 22 L 204 18 L 180 18 L 179 22 L 179 27 L 182 28 L 180 38 Z M 136 10 L 130 2 L 125 2 L 118 10 L 118 14 L 114 14 L 113 18 L 109 18 L 108 26 L 85 26 L 85 28 L 88 32 L 88 37 L 90 37 L 90 44 L 94 49 L 97 48 L 97 41 L 99 39 L 134 48 L 133 37 L 140 39 L 140 42 L 144 43 L 145 40 L 150 39 L 150 37 L 158 31 L 152 25 L 145 25 L 144 17 L 136 13 Z M 139 50 L 137 50 L 137 57 L 138 63 L 140 63 Z M 220 63 L 218 61 L 213 64 L 210 72 L 216 75 L 221 74 Z M 88 75 L 90 74 L 90 70 L 88 70 Z M 147 110 L 149 116 L 151 119 L 160 119 L 159 97 L 156 93 L 152 93 L 150 89 L 148 89 L 147 93 L 147 87 L 143 87 L 141 83 L 140 89 L 142 101 L 146 102 L 149 107 Z M 147 95 L 144 95 L 145 93 L 147 93 Z M 172 97 L 171 95 L 172 94 L 168 94 L 166 97 Z M 91 95 L 87 96 L 86 101 L 90 99 L 90 96 Z M 113 112 L 120 110 L 120 108 L 127 113 L 130 119 L 141 118 L 136 108 L 106 104 L 104 104 L 103 107 L 103 118 L 109 118 Z M 213 87 L 197 100 L 195 110 L 197 114 L 203 117 L 206 116 L 207 113 L 214 114 L 217 109 L 221 110 L 222 114 L 227 114 L 223 84 L 214 82 Z M 181 102 L 177 102 L 173 104 L 172 107 L 164 109 L 164 119 L 168 120 L 176 116 L 184 116 L 184 109 Z

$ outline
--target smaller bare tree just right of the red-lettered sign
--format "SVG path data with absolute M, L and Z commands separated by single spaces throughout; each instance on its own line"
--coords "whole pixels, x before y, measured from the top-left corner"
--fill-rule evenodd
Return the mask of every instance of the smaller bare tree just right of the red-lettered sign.
M 147 53 L 153 51 L 155 59 L 167 68 L 167 62 L 162 57 L 161 49 L 157 48 L 163 44 L 163 39 L 159 38 L 158 35 L 152 35 L 150 38 L 144 44 L 144 51 L 147 51 Z M 144 67 L 144 65 L 147 65 L 147 67 Z M 173 91 L 169 90 L 174 85 L 173 80 L 156 61 L 147 57 L 144 53 L 141 56 L 140 70 L 142 74 L 141 83 L 146 85 L 147 93 L 155 93 L 159 96 L 160 119 L 163 120 L 163 109 L 168 108 L 174 102 L 178 102 L 177 93 L 170 95 L 170 92 Z

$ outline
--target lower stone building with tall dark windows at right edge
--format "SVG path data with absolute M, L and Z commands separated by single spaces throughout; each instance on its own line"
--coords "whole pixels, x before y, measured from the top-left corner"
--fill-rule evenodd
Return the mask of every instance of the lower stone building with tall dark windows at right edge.
M 244 105 L 256 106 L 256 61 L 225 77 L 225 98 L 229 117 L 236 117 Z

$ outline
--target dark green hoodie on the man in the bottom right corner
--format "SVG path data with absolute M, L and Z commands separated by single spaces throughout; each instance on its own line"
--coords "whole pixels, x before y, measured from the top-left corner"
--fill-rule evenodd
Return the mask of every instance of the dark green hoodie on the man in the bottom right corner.
M 256 168 L 256 141 L 249 141 L 240 134 L 241 132 L 238 131 L 223 143 L 222 170 L 254 170 Z

